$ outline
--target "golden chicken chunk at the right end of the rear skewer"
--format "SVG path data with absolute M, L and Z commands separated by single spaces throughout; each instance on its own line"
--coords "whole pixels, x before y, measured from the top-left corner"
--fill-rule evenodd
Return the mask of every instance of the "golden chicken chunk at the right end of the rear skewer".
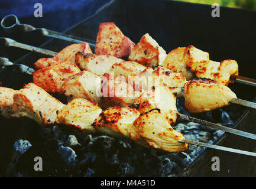
M 199 64 L 195 70 L 196 77 L 215 80 L 219 84 L 228 85 L 231 75 L 238 75 L 238 64 L 235 60 L 205 61 Z

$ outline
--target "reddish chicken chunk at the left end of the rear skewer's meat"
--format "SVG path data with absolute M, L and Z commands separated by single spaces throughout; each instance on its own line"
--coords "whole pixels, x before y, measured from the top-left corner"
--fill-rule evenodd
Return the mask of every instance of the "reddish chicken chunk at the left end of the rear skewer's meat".
M 118 58 L 128 57 L 134 43 L 122 34 L 114 22 L 99 24 L 99 31 L 96 40 L 96 54 L 111 55 Z

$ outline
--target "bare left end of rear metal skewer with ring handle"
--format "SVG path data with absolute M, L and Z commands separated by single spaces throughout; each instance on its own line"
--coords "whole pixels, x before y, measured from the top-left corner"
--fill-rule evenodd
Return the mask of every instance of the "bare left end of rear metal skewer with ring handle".
M 35 28 L 32 25 L 20 24 L 20 21 L 14 14 L 9 14 L 3 18 L 1 21 L 1 27 L 4 28 L 4 30 L 7 32 L 15 32 L 15 31 L 30 32 L 30 31 L 38 30 L 41 32 L 42 35 L 45 35 L 47 37 L 53 37 L 60 40 L 70 41 L 72 43 L 86 42 L 91 47 L 96 47 L 95 41 L 92 41 L 92 40 L 83 39 L 73 35 L 61 34 L 60 32 L 48 30 L 46 28 Z

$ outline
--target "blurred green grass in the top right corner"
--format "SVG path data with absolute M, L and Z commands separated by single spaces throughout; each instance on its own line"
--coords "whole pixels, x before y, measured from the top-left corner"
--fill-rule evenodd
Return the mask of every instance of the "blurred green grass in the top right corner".
M 193 3 L 208 4 L 208 5 L 217 3 L 220 6 L 256 10 L 256 0 L 174 0 L 174 1 L 193 2 Z

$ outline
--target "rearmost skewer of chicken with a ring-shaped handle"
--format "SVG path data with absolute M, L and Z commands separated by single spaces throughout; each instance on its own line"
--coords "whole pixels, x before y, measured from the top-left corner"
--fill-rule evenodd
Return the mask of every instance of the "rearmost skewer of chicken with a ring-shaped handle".
M 12 22 L 15 21 L 11 24 L 11 27 L 9 26 L 10 20 Z M 8 27 L 5 26 L 5 22 L 8 23 Z M 46 28 L 34 28 L 31 25 L 20 24 L 15 15 L 4 17 L 1 21 L 1 26 L 8 32 L 15 31 L 15 28 L 19 27 L 25 32 L 40 30 L 43 35 L 48 37 L 59 38 L 73 43 L 86 41 L 91 47 L 95 47 L 97 55 L 112 55 L 118 58 L 129 56 L 129 60 L 137 61 L 146 66 L 162 65 L 171 71 L 181 71 L 187 80 L 196 76 L 198 78 L 216 80 L 219 84 L 227 85 L 231 82 L 238 82 L 256 86 L 256 80 L 238 76 L 238 65 L 235 60 L 224 60 L 221 63 L 209 60 L 209 53 L 199 50 L 193 45 L 189 45 L 186 48 L 176 48 L 167 55 L 166 51 L 149 34 L 145 34 L 140 42 L 135 45 L 128 37 L 122 34 L 114 22 L 105 22 L 99 25 L 96 42 L 72 35 L 60 34 Z M 14 43 L 14 41 L 7 41 L 9 41 L 8 45 L 22 48 L 20 44 Z M 31 49 L 29 46 L 26 48 Z M 45 51 L 44 53 L 54 56 L 53 52 Z

